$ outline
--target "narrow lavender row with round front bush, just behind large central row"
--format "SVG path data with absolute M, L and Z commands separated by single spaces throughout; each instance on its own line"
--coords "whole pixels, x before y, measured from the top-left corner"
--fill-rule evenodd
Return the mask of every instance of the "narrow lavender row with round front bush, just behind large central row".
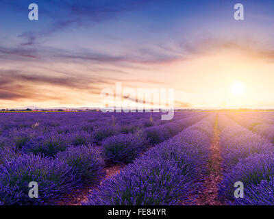
M 186 127 L 197 123 L 197 121 L 205 116 L 207 114 L 189 116 L 172 123 L 149 127 L 134 134 L 128 133 L 111 136 L 102 142 L 105 157 L 114 164 L 128 164 L 149 146 L 168 140 L 183 129 L 186 129 Z

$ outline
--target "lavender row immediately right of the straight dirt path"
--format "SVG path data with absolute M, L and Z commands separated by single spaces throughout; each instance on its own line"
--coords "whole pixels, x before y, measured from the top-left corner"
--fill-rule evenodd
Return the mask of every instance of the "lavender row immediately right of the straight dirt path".
M 256 133 L 220 114 L 223 181 L 219 195 L 232 205 L 273 205 L 274 146 Z M 242 182 L 244 197 L 234 196 L 234 183 Z M 266 195 L 267 194 L 267 195 Z

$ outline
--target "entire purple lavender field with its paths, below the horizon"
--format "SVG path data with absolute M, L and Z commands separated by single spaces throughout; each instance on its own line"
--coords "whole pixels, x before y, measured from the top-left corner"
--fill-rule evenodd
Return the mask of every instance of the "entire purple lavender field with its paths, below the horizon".
M 273 205 L 272 112 L 0 114 L 1 205 Z M 235 196 L 234 183 L 244 185 Z M 29 197 L 37 182 L 38 197 Z

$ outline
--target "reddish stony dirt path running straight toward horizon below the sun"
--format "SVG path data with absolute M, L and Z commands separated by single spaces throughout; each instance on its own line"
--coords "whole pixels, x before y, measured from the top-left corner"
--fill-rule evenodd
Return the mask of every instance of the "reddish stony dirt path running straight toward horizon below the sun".
M 214 135 L 210 146 L 210 159 L 208 161 L 208 175 L 205 175 L 203 187 L 205 189 L 199 192 L 195 205 L 225 205 L 218 198 L 218 184 L 223 179 L 221 168 L 222 157 L 219 144 L 218 115 L 214 123 Z

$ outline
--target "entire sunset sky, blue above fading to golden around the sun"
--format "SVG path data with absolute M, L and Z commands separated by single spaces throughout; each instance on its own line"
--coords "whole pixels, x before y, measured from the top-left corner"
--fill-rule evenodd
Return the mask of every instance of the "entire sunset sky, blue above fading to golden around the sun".
M 1 108 L 99 107 L 116 82 L 174 88 L 176 107 L 274 107 L 274 1 L 1 0 Z

